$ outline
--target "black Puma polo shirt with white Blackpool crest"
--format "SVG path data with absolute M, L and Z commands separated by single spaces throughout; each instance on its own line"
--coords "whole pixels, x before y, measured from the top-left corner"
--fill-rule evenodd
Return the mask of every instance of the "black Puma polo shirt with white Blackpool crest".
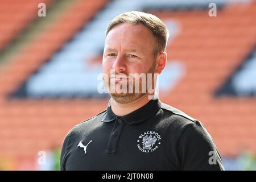
M 61 170 L 222 170 L 201 122 L 155 98 L 119 117 L 108 108 L 73 127 Z

